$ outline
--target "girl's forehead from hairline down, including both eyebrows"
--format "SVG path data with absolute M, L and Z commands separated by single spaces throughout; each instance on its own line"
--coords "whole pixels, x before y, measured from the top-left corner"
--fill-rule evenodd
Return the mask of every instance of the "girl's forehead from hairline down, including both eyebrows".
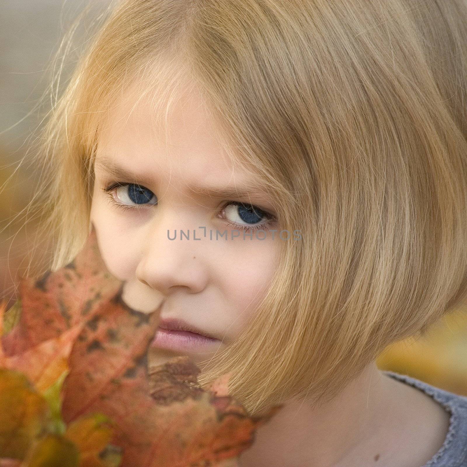
M 154 105 L 151 93 L 130 89 L 115 101 L 99 128 L 95 167 L 114 176 L 133 174 L 146 185 L 171 179 L 199 196 L 256 192 L 266 202 L 255 174 L 227 155 L 199 95 L 177 92 L 172 99 L 162 123 L 157 112 L 164 104 Z

